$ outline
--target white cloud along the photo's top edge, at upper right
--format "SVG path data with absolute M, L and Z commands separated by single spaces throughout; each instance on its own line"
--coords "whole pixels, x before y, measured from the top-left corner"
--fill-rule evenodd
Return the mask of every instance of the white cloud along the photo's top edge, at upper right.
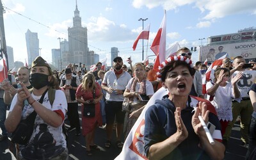
M 146 6 L 149 9 L 156 8 L 158 6 L 163 7 L 165 10 L 175 10 L 179 12 L 180 6 L 185 6 L 188 4 L 195 3 L 195 8 L 201 10 L 204 13 L 203 19 L 220 19 L 227 15 L 236 15 L 239 13 L 248 13 L 255 14 L 256 1 L 249 0 L 237 0 L 236 3 L 234 0 L 133 0 L 132 6 L 134 8 L 141 8 Z

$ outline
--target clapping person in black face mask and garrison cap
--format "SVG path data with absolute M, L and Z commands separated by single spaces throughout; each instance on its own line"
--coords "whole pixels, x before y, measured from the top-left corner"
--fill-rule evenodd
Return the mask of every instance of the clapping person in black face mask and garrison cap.
M 62 132 L 62 124 L 67 111 L 65 94 L 56 90 L 55 98 L 51 104 L 48 91 L 58 81 L 52 76 L 49 64 L 38 56 L 31 64 L 30 83 L 33 92 L 30 93 L 24 83 L 13 97 L 10 112 L 5 121 L 8 132 L 17 128 L 20 120 L 26 119 L 35 111 L 36 118 L 33 126 L 33 133 L 26 145 L 19 145 L 20 151 L 17 159 L 67 159 L 68 150 L 65 136 Z M 24 103 L 28 100 L 28 104 Z M 40 102 L 39 102 L 40 101 Z M 40 136 L 40 126 L 45 126 L 45 132 L 50 132 L 44 141 L 37 141 Z M 38 154 L 38 152 L 43 152 Z

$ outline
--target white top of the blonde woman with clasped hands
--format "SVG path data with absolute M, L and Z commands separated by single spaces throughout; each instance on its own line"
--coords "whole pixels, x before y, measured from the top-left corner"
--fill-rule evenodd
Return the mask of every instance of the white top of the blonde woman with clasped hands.
M 138 83 L 136 84 L 136 87 L 135 87 L 135 92 L 139 92 L 140 91 L 140 84 L 141 83 Z M 129 83 L 127 84 L 126 88 L 128 90 L 131 91 L 131 87 L 132 87 L 132 79 L 130 79 Z M 150 81 L 146 81 L 146 95 L 153 95 L 154 94 L 154 88 L 153 88 L 153 85 L 152 83 L 150 83 Z M 133 102 L 136 103 L 138 102 L 138 97 L 134 96 L 133 97 Z

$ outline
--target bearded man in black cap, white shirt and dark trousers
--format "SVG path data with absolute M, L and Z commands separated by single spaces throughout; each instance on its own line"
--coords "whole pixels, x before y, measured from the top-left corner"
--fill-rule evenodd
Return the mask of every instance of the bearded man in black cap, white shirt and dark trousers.
M 125 112 L 122 112 L 122 103 L 124 101 L 124 91 L 131 79 L 128 72 L 122 70 L 124 65 L 121 57 L 116 57 L 113 60 L 113 70 L 109 70 L 104 75 L 102 81 L 102 89 L 106 90 L 106 131 L 107 141 L 105 147 L 111 147 L 111 138 L 113 132 L 113 124 L 116 118 L 116 147 L 122 148 L 121 141 Z

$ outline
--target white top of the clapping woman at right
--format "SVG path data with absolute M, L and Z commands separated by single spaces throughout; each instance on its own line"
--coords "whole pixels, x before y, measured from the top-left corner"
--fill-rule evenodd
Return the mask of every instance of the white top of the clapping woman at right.
M 206 90 L 209 90 L 213 84 L 211 82 L 206 83 Z M 207 95 L 207 100 L 210 99 L 210 95 Z M 232 84 L 227 82 L 226 86 L 219 86 L 214 93 L 214 99 L 211 104 L 216 109 L 219 120 L 232 121 L 232 99 L 235 99 L 233 94 Z M 241 96 L 236 99 L 240 102 Z

